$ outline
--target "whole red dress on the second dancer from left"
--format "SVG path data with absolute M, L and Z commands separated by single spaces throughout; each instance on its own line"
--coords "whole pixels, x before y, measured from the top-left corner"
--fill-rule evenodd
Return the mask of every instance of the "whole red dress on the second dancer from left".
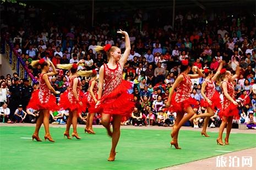
M 77 83 L 77 94 L 79 101 L 83 103 L 83 105 L 80 105 L 79 102 L 75 99 L 74 93 L 73 93 L 73 84 L 74 79 L 77 78 L 75 76 L 69 78 L 69 86 L 67 90 L 61 94 L 61 100 L 59 100 L 59 107 L 61 107 L 64 110 L 70 110 L 74 111 L 77 110 L 78 114 L 85 111 L 85 104 L 86 104 L 86 98 L 83 92 L 81 92 L 81 82 L 78 80 Z

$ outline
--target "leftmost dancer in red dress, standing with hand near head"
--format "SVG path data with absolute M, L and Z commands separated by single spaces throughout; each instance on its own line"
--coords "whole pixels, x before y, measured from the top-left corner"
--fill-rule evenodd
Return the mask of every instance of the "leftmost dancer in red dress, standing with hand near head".
M 36 129 L 34 134 L 32 135 L 32 140 L 36 139 L 36 141 L 42 141 L 39 138 L 39 129 L 43 123 L 43 126 L 45 127 L 45 140 L 48 139 L 49 141 L 54 142 L 50 135 L 49 131 L 49 116 L 50 116 L 50 110 L 56 111 L 59 110 L 58 105 L 56 104 L 56 98 L 54 95 L 51 94 L 59 94 L 58 91 L 55 91 L 55 89 L 51 86 L 51 83 L 49 81 L 49 77 L 56 75 L 57 71 L 55 69 L 55 66 L 52 64 L 52 61 L 50 61 L 47 58 L 47 61 L 45 59 L 35 60 L 32 61 L 31 66 L 34 68 L 37 68 L 37 66 L 41 66 L 41 74 L 39 76 L 39 90 L 35 90 L 32 93 L 31 99 L 29 101 L 29 104 L 27 108 L 31 108 L 34 110 L 39 110 L 39 118 L 36 122 Z M 50 69 L 50 66 L 52 67 L 52 72 L 48 72 Z

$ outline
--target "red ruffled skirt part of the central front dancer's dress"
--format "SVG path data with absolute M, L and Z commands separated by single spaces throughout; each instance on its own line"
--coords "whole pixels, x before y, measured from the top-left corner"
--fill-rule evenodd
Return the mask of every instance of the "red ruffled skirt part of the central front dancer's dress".
M 134 109 L 133 95 L 128 93 L 132 83 L 123 80 L 118 87 L 101 98 L 100 103 L 92 112 L 111 115 L 130 115 Z

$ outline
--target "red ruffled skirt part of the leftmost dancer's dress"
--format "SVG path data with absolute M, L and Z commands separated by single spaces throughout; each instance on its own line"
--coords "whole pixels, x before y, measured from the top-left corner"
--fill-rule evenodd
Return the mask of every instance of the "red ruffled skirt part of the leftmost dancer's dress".
M 47 102 L 41 103 L 39 100 L 39 89 L 35 90 L 30 98 L 28 106 L 26 108 L 32 108 L 34 110 L 51 110 L 58 111 L 59 106 L 56 103 L 56 97 L 50 94 L 50 97 Z

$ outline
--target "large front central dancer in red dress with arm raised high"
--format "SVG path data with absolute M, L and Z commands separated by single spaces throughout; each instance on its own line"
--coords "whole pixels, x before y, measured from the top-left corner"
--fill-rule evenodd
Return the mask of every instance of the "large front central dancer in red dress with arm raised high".
M 106 44 L 105 47 L 98 46 L 95 48 L 97 53 L 105 50 L 109 59 L 107 64 L 100 67 L 98 101 L 95 106 L 95 112 L 102 114 L 102 125 L 107 129 L 108 135 L 112 137 L 112 148 L 108 161 L 115 160 L 122 115 L 130 114 L 134 106 L 133 95 L 127 92 L 128 89 L 132 88 L 132 84 L 122 78 L 123 66 L 130 53 L 130 39 L 125 31 L 120 30 L 117 33 L 122 33 L 126 39 L 126 50 L 123 56 L 118 47 L 111 47 L 110 44 Z M 113 133 L 110 130 L 111 116 L 113 117 Z

